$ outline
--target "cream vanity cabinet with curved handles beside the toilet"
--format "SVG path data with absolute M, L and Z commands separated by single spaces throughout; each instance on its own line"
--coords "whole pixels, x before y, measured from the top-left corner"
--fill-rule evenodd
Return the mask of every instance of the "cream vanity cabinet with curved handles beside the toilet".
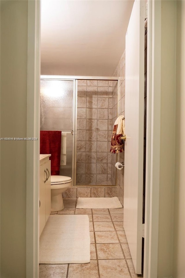
M 39 236 L 51 213 L 51 161 L 49 155 L 40 161 Z

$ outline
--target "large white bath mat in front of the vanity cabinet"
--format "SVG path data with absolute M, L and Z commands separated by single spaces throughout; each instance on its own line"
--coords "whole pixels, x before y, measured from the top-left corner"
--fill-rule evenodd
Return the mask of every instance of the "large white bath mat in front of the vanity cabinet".
M 88 215 L 50 215 L 40 235 L 40 264 L 90 262 Z

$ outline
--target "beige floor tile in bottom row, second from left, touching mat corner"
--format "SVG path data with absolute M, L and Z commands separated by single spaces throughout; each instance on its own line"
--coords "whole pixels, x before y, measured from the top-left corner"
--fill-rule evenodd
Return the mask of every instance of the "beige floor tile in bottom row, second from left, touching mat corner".
M 88 264 L 70 264 L 68 278 L 98 278 L 97 260 Z M 53 278 L 53 277 L 52 277 Z

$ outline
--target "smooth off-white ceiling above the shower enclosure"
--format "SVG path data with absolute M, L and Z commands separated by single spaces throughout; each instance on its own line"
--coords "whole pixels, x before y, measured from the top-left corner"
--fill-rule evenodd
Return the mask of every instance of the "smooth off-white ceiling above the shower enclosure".
M 41 74 L 112 76 L 132 0 L 42 0 Z

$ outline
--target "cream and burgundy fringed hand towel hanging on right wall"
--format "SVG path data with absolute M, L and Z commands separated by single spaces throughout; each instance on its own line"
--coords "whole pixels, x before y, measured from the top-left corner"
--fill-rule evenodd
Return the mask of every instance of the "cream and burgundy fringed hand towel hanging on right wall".
M 122 153 L 124 151 L 124 141 L 121 139 L 125 134 L 125 116 L 119 116 L 114 122 L 111 139 L 111 153 Z

